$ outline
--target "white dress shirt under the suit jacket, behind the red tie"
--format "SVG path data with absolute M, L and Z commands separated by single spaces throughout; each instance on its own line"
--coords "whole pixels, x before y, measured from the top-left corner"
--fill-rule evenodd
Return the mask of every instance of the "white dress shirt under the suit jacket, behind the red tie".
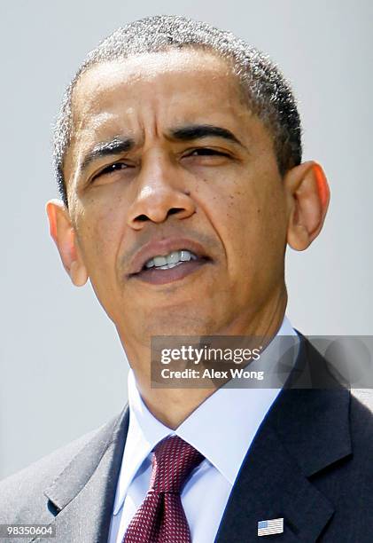
M 277 335 L 297 335 L 285 317 Z M 263 351 L 272 367 L 278 353 Z M 129 427 L 114 501 L 109 543 L 121 543 L 141 506 L 152 473 L 152 449 L 167 436 L 179 436 L 205 460 L 183 487 L 181 500 L 193 543 L 213 543 L 239 468 L 280 388 L 221 387 L 175 430 L 147 409 L 128 374 Z

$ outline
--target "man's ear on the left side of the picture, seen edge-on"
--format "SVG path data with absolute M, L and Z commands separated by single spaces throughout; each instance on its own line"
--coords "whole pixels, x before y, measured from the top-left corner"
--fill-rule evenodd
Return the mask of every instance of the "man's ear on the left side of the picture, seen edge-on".
M 46 211 L 51 237 L 57 245 L 62 264 L 75 287 L 82 287 L 88 280 L 88 273 L 82 261 L 68 209 L 63 201 L 51 200 L 46 204 Z

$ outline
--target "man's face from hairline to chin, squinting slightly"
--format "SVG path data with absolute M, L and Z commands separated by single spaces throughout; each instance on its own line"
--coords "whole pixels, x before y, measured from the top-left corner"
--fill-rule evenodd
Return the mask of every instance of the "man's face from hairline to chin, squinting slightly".
M 74 91 L 65 176 L 83 262 L 122 338 L 226 333 L 284 292 L 273 141 L 214 55 L 91 68 Z M 191 259 L 152 265 L 169 253 Z

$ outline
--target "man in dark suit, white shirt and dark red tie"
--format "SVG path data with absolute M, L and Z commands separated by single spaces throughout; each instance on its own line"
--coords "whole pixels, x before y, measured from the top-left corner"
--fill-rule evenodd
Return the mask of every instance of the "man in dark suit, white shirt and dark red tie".
M 165 334 L 293 335 L 296 365 L 325 373 L 284 317 L 284 252 L 315 240 L 329 189 L 276 67 L 205 23 L 136 21 L 66 91 L 55 160 L 51 236 L 118 330 L 129 407 L 5 480 L 1 523 L 61 543 L 371 541 L 369 397 L 151 382 Z

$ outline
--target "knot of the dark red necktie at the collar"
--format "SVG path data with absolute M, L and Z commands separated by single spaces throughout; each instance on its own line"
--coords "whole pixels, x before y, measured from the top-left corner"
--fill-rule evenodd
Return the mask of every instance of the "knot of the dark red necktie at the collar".
M 152 491 L 180 493 L 191 471 L 203 459 L 181 437 L 165 437 L 155 447 L 152 457 Z

